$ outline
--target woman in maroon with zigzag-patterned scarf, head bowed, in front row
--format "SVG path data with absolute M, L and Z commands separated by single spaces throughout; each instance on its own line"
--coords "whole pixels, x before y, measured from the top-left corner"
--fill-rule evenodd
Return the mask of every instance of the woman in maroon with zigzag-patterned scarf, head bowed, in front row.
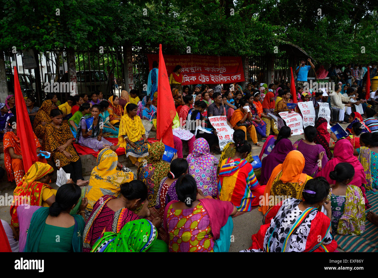
M 120 190 L 118 198 L 104 195 L 93 206 L 83 233 L 84 252 L 90 252 L 104 232 L 118 233 L 127 222 L 150 216 L 146 184 L 133 180 L 121 184 Z M 139 208 L 139 212 L 135 213 Z M 152 223 L 160 227 L 161 218 L 153 219 Z

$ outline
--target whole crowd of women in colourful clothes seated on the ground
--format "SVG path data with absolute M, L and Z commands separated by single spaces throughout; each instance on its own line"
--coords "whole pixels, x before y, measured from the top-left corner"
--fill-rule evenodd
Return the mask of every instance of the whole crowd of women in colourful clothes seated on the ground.
M 290 128 L 268 115 L 289 110 L 290 93 L 280 93 L 276 105 L 274 93 L 263 88 L 243 95 L 216 86 L 213 99 L 206 91 L 204 100 L 194 101 L 190 94 L 181 98 L 172 129 L 175 144 L 181 143 L 182 149 L 186 142 L 189 155 L 184 159 L 178 152 L 170 163 L 163 160 L 162 142 L 147 141 L 146 127 L 153 127 L 156 116 L 148 96 L 135 104 L 127 91 L 108 100 L 95 93 L 90 102 L 82 95 L 59 105 L 56 96 L 50 95 L 39 110 L 34 109 L 35 100 L 28 98 L 28 112 L 34 111 L 29 114 L 34 117 L 36 136 L 31 140 L 36 153 L 50 152 L 50 159 L 59 161 L 57 168 L 71 174 L 58 190 L 49 185 L 53 167 L 42 156 L 30 169 L 23 168 L 13 125 L 16 115 L 9 117 L 0 105 L 0 120 L 3 115 L 8 118 L 2 133 L 6 171 L 8 179 L 16 182 L 11 226 L 2 221 L 6 227 L 1 229 L 9 248 L 20 252 L 228 252 L 232 216 L 259 207 L 263 225 L 252 235 L 252 246 L 243 251 L 334 252 L 333 235 L 361 235 L 365 219 L 378 224 L 375 213 L 365 215 L 370 207 L 367 194 L 378 189 L 378 133 L 369 132 L 353 114 L 347 129 L 351 136 L 337 139 L 319 117 L 292 143 Z M 212 115 L 227 116 L 234 129 L 234 142 L 223 148 L 220 159 L 212 152 L 217 151 L 218 139 L 209 122 L 208 132 L 198 129 Z M 104 133 L 117 136 L 118 145 Z M 253 167 L 254 146 L 248 134 L 253 145 L 262 147 L 260 169 Z M 82 176 L 74 142 L 99 151 L 89 181 Z M 124 147 L 136 171 L 118 162 L 118 147 Z M 30 209 L 25 209 L 26 202 Z M 158 216 L 152 217 L 152 212 Z

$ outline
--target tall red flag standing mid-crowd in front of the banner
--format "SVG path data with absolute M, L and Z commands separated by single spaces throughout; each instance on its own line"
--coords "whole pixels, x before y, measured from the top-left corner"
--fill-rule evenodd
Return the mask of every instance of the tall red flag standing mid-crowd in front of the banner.
M 170 90 L 167 69 L 164 63 L 161 44 L 159 49 L 158 72 L 158 112 L 156 120 L 156 138 L 163 144 L 174 148 L 172 121 L 176 116 L 175 101 Z

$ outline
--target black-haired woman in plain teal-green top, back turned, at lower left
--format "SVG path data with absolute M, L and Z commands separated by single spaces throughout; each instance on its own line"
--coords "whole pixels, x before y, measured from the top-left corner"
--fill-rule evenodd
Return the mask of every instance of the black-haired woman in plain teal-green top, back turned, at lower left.
M 78 214 L 70 215 L 78 202 L 81 202 Z M 59 187 L 51 207 L 33 213 L 24 252 L 82 252 L 87 203 L 86 198 L 81 199 L 78 185 Z

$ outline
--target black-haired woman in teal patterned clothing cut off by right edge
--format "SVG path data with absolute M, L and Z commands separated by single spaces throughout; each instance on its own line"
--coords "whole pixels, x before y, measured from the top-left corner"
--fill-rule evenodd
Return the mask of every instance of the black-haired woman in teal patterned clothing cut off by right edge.
M 361 147 L 355 150 L 358 160 L 364 167 L 365 187 L 368 190 L 378 189 L 378 133 L 363 133 L 360 137 Z

